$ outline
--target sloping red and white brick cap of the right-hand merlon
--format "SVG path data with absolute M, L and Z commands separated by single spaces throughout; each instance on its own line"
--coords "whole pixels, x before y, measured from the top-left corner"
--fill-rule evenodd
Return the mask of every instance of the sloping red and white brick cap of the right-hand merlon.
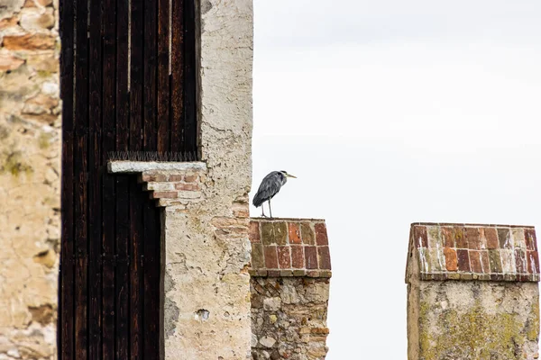
M 533 228 L 418 223 L 412 224 L 411 241 L 423 280 L 539 280 Z

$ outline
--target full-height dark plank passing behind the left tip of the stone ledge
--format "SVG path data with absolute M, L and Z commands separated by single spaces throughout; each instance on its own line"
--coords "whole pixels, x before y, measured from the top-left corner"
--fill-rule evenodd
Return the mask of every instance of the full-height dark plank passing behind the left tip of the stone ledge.
M 116 2 L 102 0 L 103 90 L 102 164 L 115 150 L 116 113 Z M 104 171 L 102 187 L 102 356 L 115 358 L 115 177 Z

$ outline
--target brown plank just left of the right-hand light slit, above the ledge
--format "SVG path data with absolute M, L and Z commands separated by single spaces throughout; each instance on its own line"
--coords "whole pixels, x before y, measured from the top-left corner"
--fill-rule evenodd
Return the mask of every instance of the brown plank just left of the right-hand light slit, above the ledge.
M 170 0 L 158 0 L 158 151 L 170 151 Z

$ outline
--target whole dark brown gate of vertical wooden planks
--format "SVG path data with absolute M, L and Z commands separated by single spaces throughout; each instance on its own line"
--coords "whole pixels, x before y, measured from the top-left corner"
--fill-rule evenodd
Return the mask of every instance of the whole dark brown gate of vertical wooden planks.
M 159 358 L 160 214 L 106 162 L 197 154 L 195 24 L 194 0 L 60 0 L 61 360 Z

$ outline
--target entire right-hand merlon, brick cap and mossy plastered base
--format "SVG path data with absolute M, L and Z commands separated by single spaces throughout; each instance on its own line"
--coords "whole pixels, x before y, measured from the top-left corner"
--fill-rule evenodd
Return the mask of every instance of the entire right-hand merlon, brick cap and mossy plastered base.
M 538 281 L 533 228 L 413 224 L 408 359 L 538 358 Z

